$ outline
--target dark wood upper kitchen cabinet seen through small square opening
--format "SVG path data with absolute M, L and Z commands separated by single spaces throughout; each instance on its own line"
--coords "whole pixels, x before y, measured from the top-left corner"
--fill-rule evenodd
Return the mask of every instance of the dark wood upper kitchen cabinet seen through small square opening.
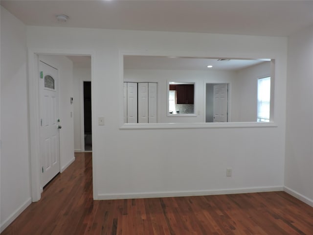
M 193 104 L 194 103 L 194 84 L 170 85 L 170 90 L 176 91 L 177 104 Z

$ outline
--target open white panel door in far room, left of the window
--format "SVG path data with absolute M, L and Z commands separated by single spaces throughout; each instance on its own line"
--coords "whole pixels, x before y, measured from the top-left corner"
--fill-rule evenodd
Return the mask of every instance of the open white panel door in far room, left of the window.
M 213 122 L 227 122 L 228 84 L 213 86 Z

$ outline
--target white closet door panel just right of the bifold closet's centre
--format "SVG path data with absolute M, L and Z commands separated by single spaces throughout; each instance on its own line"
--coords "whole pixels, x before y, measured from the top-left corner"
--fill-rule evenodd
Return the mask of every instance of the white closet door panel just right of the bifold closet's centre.
M 138 83 L 138 123 L 148 123 L 148 83 Z

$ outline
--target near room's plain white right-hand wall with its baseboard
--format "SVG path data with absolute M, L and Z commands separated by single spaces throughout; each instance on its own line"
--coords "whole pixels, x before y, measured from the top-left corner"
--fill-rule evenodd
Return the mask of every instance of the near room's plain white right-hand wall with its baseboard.
M 313 27 L 288 39 L 285 186 L 313 206 Z

